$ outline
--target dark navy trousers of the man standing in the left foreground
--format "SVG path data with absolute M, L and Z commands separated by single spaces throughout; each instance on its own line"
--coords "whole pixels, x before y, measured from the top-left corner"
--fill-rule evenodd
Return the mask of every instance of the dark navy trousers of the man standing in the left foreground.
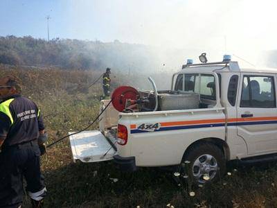
M 0 153 L 0 207 L 18 207 L 23 200 L 23 177 L 26 191 L 44 189 L 40 172 L 40 151 L 36 141 L 5 148 Z

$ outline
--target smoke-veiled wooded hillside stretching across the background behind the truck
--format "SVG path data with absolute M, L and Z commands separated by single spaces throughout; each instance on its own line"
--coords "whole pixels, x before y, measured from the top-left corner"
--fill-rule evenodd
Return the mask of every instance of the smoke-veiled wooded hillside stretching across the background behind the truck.
M 31 36 L 0 36 L 0 64 L 26 67 L 39 67 L 66 70 L 102 71 L 109 67 L 121 73 L 157 73 L 180 68 L 186 58 L 194 58 L 203 51 L 199 49 L 170 48 L 170 46 L 147 46 L 129 44 L 118 40 L 100 42 L 99 40 L 72 40 L 55 38 L 49 42 Z M 211 49 L 209 62 L 219 61 L 222 54 Z M 263 51 L 259 59 L 251 62 L 257 65 L 277 68 L 277 51 Z M 219 56 L 220 55 L 220 56 Z M 243 58 L 233 54 L 233 60 L 247 64 Z M 248 60 L 248 59 L 247 59 Z M 249 63 L 248 63 L 249 64 Z M 249 67 L 249 65 L 247 65 Z

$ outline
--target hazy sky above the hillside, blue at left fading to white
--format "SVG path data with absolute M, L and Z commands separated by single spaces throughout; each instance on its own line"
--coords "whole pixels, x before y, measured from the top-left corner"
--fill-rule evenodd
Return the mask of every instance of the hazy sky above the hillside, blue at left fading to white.
M 250 58 L 277 49 L 276 8 L 274 0 L 1 0 L 0 35 L 46 39 L 50 15 L 51 38 L 120 40 Z

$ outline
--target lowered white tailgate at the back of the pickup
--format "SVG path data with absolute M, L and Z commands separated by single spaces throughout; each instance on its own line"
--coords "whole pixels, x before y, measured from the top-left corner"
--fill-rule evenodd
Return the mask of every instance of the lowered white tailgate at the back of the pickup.
M 73 132 L 69 132 L 71 134 Z M 80 132 L 69 137 L 73 160 L 80 159 L 82 162 L 100 162 L 114 159 L 116 150 L 99 130 Z

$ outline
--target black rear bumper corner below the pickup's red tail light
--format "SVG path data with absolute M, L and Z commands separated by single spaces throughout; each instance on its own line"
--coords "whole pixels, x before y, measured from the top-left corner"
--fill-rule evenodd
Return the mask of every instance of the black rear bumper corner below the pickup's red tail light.
M 138 169 L 135 157 L 120 157 L 119 155 L 114 155 L 114 162 L 119 166 L 120 171 L 134 172 Z

